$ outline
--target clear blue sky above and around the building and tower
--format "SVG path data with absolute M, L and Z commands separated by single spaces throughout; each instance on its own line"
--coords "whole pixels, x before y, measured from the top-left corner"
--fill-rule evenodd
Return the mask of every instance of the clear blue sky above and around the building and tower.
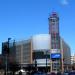
M 60 35 L 75 53 L 75 0 L 0 0 L 0 46 L 8 37 L 21 40 L 48 33 L 48 17 L 60 17 Z

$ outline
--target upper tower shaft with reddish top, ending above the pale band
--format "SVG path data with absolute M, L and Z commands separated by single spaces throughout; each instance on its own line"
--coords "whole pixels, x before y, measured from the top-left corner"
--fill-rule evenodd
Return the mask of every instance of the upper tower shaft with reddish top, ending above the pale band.
M 59 17 L 56 12 L 49 17 L 49 34 L 51 34 L 51 49 L 60 49 Z

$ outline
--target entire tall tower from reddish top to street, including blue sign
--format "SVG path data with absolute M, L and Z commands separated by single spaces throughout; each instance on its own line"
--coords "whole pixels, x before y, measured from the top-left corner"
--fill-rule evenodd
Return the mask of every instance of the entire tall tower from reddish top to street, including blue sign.
M 49 17 L 49 34 L 51 35 L 51 71 L 59 71 L 61 68 L 59 17 L 53 12 Z

